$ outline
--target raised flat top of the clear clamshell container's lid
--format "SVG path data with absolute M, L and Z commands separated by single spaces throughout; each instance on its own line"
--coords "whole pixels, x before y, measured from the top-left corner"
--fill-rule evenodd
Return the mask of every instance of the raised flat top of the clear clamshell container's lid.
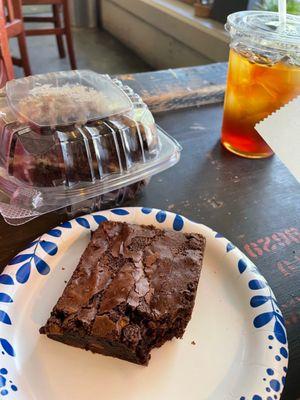
M 9 106 L 20 119 L 39 127 L 84 124 L 123 114 L 133 105 L 105 75 L 68 71 L 29 76 L 6 84 Z

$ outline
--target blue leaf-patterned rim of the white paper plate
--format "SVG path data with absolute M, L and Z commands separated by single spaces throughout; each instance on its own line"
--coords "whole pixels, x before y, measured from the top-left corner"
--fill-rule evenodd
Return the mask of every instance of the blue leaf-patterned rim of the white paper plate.
M 9 306 L 14 302 L 14 297 L 9 288 L 22 287 L 30 281 L 32 271 L 35 270 L 41 276 L 51 273 L 51 259 L 59 254 L 60 241 L 65 233 L 71 232 L 75 225 L 84 230 L 94 230 L 99 224 L 110 219 L 126 219 L 131 213 L 139 213 L 147 219 L 145 223 L 157 226 L 169 227 L 175 231 L 182 231 L 185 227 L 184 217 L 163 210 L 152 208 L 117 208 L 106 212 L 76 218 L 67 221 L 57 228 L 51 229 L 47 234 L 31 242 L 23 252 L 15 256 L 8 265 L 8 269 L 0 275 L 0 326 L 12 326 L 9 315 Z M 254 330 L 263 330 L 267 333 L 265 340 L 268 351 L 274 351 L 274 364 L 266 366 L 262 381 L 265 382 L 264 393 L 241 393 L 240 400 L 273 400 L 279 399 L 284 387 L 287 372 L 288 348 L 284 319 L 279 310 L 276 298 L 267 282 L 260 275 L 254 264 L 248 260 L 231 242 L 219 233 L 213 233 L 215 240 L 224 245 L 224 257 L 235 260 L 237 277 L 243 277 L 246 290 L 249 293 L 249 307 L 255 311 L 252 321 Z M 7 290 L 6 290 L 7 288 Z M 267 328 L 267 330 L 266 330 Z M 0 335 L 1 336 L 1 335 Z M 277 343 L 275 346 L 274 343 Z M 272 343 L 272 344 L 270 344 Z M 3 356 L 17 357 L 10 337 L 0 337 L 0 350 Z M 281 362 L 279 367 L 279 362 Z M 276 365 L 276 363 L 278 363 Z M 0 368 L 0 395 L 5 397 L 9 393 L 17 394 L 20 388 L 9 379 L 9 371 L 2 360 Z M 282 367 L 283 365 L 283 367 Z M 241 387 L 241 391 L 243 388 Z

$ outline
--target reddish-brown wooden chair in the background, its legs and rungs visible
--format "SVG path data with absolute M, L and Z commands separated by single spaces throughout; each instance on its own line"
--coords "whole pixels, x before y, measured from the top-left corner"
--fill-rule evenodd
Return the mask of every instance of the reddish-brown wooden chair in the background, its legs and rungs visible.
M 76 58 L 73 46 L 70 9 L 68 0 L 22 0 L 22 4 L 28 5 L 52 5 L 52 16 L 25 16 L 25 22 L 52 22 L 54 28 L 27 29 L 26 36 L 55 35 L 59 55 L 61 58 L 66 56 L 63 42 L 63 35 L 66 36 L 67 48 L 72 69 L 76 69 Z M 61 23 L 61 11 L 63 24 Z

